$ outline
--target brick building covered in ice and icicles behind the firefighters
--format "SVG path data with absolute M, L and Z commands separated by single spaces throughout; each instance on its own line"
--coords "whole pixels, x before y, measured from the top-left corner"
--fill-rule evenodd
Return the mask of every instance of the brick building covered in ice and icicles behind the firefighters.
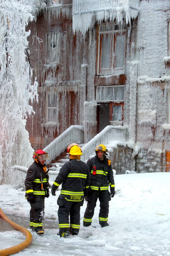
M 170 1 L 48 0 L 29 29 L 32 147 L 99 142 L 117 173 L 170 171 Z

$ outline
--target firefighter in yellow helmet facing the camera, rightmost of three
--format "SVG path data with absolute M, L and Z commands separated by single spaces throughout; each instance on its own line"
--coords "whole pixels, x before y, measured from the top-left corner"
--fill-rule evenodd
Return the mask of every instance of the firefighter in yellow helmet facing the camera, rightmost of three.
M 96 156 L 87 161 L 87 165 L 91 174 L 90 188 L 87 190 L 87 208 L 84 213 L 83 226 L 91 225 L 94 215 L 96 202 L 100 201 L 99 224 L 106 227 L 109 224 L 108 211 L 109 201 L 115 195 L 115 182 L 113 177 L 113 169 L 111 161 L 106 158 L 105 145 L 100 144 L 95 149 Z M 110 193 L 108 191 L 110 186 Z

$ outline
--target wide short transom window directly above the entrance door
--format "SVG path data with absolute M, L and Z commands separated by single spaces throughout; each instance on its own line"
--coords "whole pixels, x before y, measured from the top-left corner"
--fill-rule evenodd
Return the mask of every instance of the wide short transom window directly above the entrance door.
M 97 86 L 97 102 L 124 101 L 124 86 Z

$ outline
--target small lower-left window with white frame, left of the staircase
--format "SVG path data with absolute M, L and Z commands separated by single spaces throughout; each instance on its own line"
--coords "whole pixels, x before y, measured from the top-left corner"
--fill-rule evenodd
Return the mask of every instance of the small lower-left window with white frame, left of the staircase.
M 47 95 L 47 115 L 46 122 L 58 122 L 58 101 L 56 94 Z

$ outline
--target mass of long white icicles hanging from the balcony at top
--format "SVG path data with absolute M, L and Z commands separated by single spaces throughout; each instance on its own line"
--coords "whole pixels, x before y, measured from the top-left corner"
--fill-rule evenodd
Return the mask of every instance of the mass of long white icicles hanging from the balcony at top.
M 137 17 L 139 0 L 73 0 L 73 32 L 81 31 L 85 36 L 88 29 L 92 29 L 96 21 L 110 20 L 131 22 L 131 18 Z

